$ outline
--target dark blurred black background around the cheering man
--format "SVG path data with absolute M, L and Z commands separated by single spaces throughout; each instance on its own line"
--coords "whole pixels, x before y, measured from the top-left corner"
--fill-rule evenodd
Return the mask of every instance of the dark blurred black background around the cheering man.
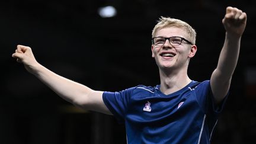
M 111 5 L 116 16 L 98 9 Z M 197 31 L 197 55 L 188 68 L 209 79 L 225 38 L 227 6 L 247 12 L 241 55 L 213 142 L 256 143 L 256 1 L 1 1 L 0 143 L 126 143 L 123 124 L 62 100 L 11 57 L 30 46 L 53 72 L 101 91 L 159 84 L 151 32 L 160 16 L 186 21 Z

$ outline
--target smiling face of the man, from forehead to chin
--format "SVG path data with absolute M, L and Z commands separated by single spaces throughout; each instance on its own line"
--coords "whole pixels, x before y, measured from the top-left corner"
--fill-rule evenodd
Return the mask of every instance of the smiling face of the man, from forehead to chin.
M 187 33 L 182 28 L 167 27 L 156 31 L 155 37 L 179 36 L 188 39 Z M 196 54 L 196 45 L 186 43 L 184 40 L 179 46 L 172 46 L 168 40 L 163 46 L 152 44 L 152 57 L 155 57 L 156 64 L 160 69 L 180 69 L 188 67 L 191 57 Z

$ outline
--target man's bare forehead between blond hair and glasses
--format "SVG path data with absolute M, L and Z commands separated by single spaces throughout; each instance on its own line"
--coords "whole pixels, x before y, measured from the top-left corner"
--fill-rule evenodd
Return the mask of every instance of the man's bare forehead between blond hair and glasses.
M 156 31 L 155 37 L 187 37 L 187 33 L 183 28 L 178 27 L 165 27 Z

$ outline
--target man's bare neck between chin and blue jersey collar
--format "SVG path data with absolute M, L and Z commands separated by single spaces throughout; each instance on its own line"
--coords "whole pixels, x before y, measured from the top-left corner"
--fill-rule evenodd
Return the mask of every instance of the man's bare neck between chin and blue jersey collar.
M 160 90 L 166 95 L 184 88 L 191 82 L 191 79 L 187 75 L 187 69 L 178 72 L 167 72 L 159 69 L 159 75 L 161 80 Z

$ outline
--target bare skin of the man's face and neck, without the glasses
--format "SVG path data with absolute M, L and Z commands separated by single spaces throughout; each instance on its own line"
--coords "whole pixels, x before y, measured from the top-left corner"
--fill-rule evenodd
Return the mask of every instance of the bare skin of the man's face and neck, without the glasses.
M 187 39 L 187 33 L 182 28 L 167 27 L 156 32 L 156 37 L 180 36 Z M 156 65 L 159 68 L 161 80 L 161 91 L 164 94 L 171 94 L 185 87 L 191 82 L 188 78 L 187 68 L 190 58 L 196 54 L 197 47 L 182 41 L 179 46 L 172 46 L 168 40 L 163 46 L 152 44 L 152 57 L 155 57 Z M 164 57 L 161 53 L 174 53 L 174 57 Z

